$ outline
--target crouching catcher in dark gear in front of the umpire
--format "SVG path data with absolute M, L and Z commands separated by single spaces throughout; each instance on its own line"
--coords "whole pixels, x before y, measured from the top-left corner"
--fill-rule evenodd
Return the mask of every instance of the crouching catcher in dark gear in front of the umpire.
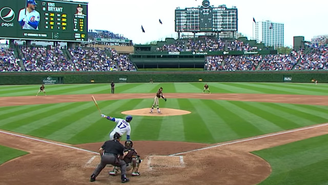
M 140 156 L 137 155 L 137 151 L 132 146 L 133 146 L 133 142 L 131 140 L 125 141 L 124 154 L 127 153 L 127 155 L 124 157 L 123 160 L 127 163 L 127 172 L 132 169 L 131 175 L 139 176 L 140 173 L 138 172 L 138 169 L 141 159 Z M 113 171 L 110 171 L 109 175 L 115 176 L 118 171 L 119 171 L 119 167 L 114 166 Z

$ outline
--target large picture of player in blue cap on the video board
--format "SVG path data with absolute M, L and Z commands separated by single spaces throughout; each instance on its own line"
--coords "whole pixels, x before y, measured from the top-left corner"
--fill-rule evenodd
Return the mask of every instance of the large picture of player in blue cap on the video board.
M 40 13 L 35 8 L 35 0 L 27 0 L 26 8 L 19 11 L 18 22 L 23 29 L 38 30 Z

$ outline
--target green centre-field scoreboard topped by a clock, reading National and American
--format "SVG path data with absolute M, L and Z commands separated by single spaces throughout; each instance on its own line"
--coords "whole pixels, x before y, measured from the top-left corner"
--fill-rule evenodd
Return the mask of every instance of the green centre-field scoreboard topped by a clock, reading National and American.
M 237 31 L 237 8 L 210 6 L 208 0 L 198 8 L 175 10 L 176 32 Z

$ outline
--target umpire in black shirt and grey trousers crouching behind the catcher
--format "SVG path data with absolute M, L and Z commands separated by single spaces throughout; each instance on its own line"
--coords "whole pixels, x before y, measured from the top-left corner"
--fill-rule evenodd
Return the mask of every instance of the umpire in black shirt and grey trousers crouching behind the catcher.
M 106 141 L 103 146 L 99 149 L 99 154 L 101 157 L 101 162 L 98 164 L 97 168 L 94 170 L 90 177 L 90 181 L 96 180 L 101 170 L 103 170 L 107 164 L 112 164 L 120 167 L 121 170 L 121 182 L 129 182 L 127 178 L 127 164 L 123 159 L 124 156 L 124 146 L 119 142 L 120 135 L 118 133 L 114 134 L 113 140 Z

